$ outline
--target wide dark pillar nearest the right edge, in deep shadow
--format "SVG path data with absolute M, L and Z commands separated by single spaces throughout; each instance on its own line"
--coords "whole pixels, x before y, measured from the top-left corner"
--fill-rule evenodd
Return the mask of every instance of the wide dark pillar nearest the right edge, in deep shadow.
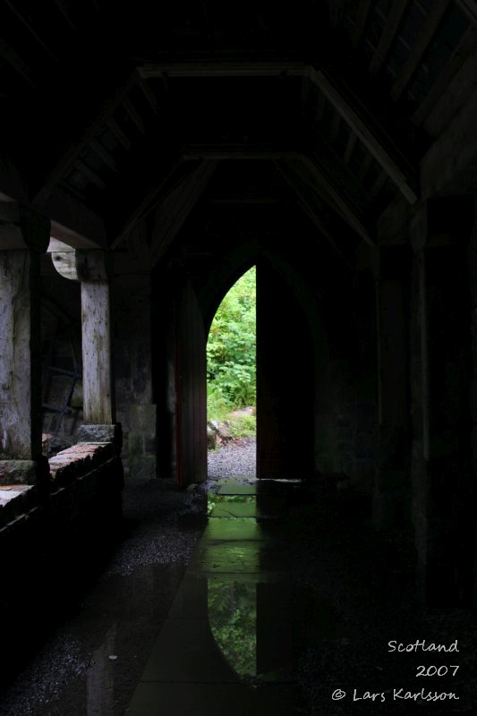
M 422 601 L 438 606 L 468 601 L 473 560 L 469 225 L 455 201 L 413 223 L 413 524 Z

